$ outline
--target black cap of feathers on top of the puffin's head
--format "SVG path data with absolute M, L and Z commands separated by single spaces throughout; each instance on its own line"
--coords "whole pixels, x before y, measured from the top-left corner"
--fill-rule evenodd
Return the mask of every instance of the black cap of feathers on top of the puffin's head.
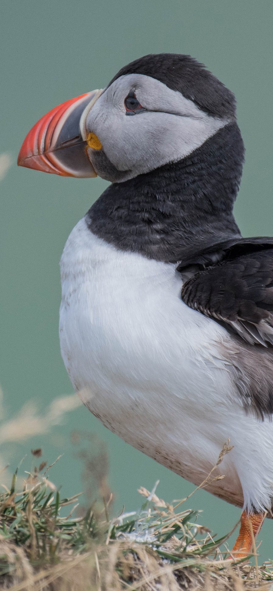
M 179 53 L 158 53 L 140 57 L 124 66 L 108 86 L 125 74 L 145 74 L 178 90 L 202 111 L 220 118 L 234 118 L 236 102 L 233 93 L 205 66 L 191 56 Z

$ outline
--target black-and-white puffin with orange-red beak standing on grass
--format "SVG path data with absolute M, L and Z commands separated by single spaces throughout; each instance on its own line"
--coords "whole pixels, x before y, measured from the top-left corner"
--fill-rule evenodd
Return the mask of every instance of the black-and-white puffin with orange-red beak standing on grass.
M 64 365 L 103 425 L 196 486 L 230 442 L 206 489 L 242 508 L 235 558 L 273 499 L 273 238 L 233 216 L 243 161 L 233 93 L 168 53 L 52 109 L 18 156 L 109 181 L 61 256 Z

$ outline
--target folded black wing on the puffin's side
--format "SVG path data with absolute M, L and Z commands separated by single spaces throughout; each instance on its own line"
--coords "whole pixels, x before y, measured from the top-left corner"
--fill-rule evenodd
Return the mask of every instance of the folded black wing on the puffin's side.
M 248 343 L 273 345 L 273 239 L 247 238 L 198 253 L 180 264 L 183 301 L 224 323 Z M 213 264 L 215 263 L 216 264 Z

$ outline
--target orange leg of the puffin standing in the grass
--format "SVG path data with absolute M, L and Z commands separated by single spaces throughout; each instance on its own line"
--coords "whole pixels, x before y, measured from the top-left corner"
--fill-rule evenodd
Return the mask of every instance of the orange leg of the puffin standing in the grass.
M 232 550 L 234 558 L 245 558 L 251 553 L 253 545 L 251 525 L 255 538 L 261 530 L 265 515 L 266 513 L 247 514 L 245 511 L 242 512 L 239 535 Z

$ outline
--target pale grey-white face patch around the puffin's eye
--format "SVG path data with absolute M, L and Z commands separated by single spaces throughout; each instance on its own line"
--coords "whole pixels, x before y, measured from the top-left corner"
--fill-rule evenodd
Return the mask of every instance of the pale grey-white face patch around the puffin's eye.
M 128 116 L 124 101 L 132 92 L 146 110 Z M 115 80 L 96 100 L 86 118 L 86 132 L 99 138 L 113 168 L 124 171 L 114 178 L 109 165 L 105 174 L 100 167 L 99 175 L 124 181 L 181 160 L 228 123 L 228 119 L 203 112 L 159 80 L 128 74 Z M 89 148 L 88 154 L 96 170 L 98 150 Z

